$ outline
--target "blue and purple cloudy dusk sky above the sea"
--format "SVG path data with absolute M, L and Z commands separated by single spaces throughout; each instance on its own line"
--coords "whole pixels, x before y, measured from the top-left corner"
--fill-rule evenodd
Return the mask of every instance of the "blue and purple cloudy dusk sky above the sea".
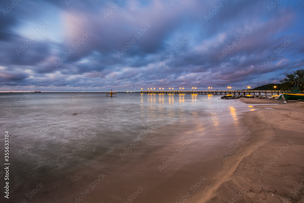
M 247 89 L 304 67 L 302 0 L 2 0 L 0 91 Z

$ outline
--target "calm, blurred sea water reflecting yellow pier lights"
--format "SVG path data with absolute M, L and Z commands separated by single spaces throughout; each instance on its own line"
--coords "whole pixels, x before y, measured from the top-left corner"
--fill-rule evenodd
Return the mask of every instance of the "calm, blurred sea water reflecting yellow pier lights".
M 124 203 L 144 186 L 132 199 L 143 202 L 184 166 L 223 155 L 246 131 L 240 114 L 254 110 L 219 95 L 80 94 L 0 93 L 1 143 L 4 131 L 10 143 L 5 202 L 77 202 L 88 189 L 80 202 Z M 92 188 L 99 173 L 106 176 Z

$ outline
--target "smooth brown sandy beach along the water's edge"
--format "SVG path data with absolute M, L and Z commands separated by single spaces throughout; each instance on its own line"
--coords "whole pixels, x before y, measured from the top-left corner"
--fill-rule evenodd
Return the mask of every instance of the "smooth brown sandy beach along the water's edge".
M 231 146 L 214 182 L 190 202 L 304 202 L 303 106 L 304 102 L 258 105 L 258 110 L 246 112 L 242 121 L 252 130 Z

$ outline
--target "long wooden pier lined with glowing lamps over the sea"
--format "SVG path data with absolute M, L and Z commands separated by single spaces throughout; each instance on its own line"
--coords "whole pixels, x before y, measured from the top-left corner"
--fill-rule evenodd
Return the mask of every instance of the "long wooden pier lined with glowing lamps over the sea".
M 280 90 L 176 90 L 176 91 L 155 91 L 155 90 L 147 90 L 147 91 L 140 91 L 142 94 L 215 94 L 215 95 L 267 95 L 267 94 L 275 94 L 280 95 L 280 93 L 283 95 L 283 91 Z

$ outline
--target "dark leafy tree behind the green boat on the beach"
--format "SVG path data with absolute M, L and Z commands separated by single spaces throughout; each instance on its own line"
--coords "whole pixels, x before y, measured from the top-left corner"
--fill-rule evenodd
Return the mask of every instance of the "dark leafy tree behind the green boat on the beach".
M 304 89 L 304 69 L 294 71 L 292 73 L 285 73 L 285 78 L 280 80 L 282 84 L 281 90 L 288 90 L 292 85 L 299 85 L 300 91 Z

